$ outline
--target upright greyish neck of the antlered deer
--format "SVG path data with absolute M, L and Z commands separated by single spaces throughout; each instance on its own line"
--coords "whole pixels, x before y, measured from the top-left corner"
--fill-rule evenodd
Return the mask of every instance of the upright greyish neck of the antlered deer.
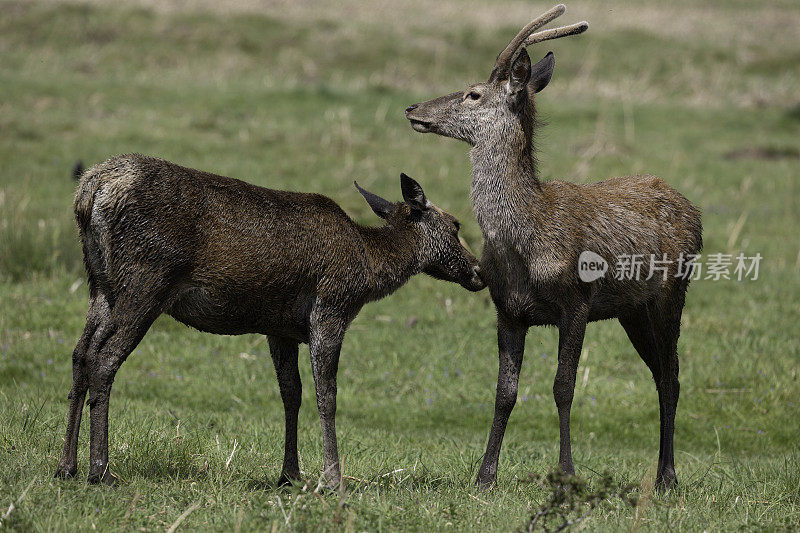
M 526 213 L 541 194 L 530 132 L 522 125 L 495 132 L 470 151 L 470 196 L 478 224 L 487 241 L 501 238 Z

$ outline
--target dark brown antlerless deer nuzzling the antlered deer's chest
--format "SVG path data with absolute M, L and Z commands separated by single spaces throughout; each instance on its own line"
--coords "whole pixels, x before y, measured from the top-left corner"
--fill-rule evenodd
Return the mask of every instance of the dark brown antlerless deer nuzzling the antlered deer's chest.
M 459 241 L 458 221 L 401 175 L 404 202 L 356 184 L 382 227 L 353 222 L 331 199 L 283 192 L 124 155 L 88 169 L 75 217 L 89 278 L 86 327 L 72 356 L 64 453 L 56 476 L 77 471 L 78 431 L 88 391 L 90 482 L 112 482 L 108 403 L 120 365 L 167 313 L 222 335 L 269 340 L 286 416 L 279 483 L 298 479 L 298 344 L 311 348 L 322 422 L 324 476 L 339 482 L 334 416 L 342 338 L 367 302 L 418 273 L 484 287 L 478 260 Z

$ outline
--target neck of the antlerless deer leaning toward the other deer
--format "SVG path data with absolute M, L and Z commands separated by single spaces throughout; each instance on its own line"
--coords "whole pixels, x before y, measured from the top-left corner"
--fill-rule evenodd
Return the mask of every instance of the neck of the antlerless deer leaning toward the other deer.
M 417 240 L 411 228 L 360 227 L 367 259 L 368 300 L 388 296 L 421 272 Z

